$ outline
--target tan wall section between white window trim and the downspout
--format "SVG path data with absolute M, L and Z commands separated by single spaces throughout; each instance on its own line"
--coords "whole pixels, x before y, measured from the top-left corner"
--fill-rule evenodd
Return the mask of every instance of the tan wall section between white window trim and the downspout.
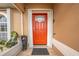
M 19 35 L 21 34 L 21 24 L 20 24 L 20 13 L 17 9 L 11 9 L 11 31 L 16 31 Z

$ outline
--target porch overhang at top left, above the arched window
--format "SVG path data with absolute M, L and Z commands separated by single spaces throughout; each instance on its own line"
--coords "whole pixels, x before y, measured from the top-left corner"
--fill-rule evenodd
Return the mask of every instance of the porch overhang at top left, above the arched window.
M 4 8 L 18 8 L 21 12 L 24 12 L 23 3 L 0 3 L 0 9 Z

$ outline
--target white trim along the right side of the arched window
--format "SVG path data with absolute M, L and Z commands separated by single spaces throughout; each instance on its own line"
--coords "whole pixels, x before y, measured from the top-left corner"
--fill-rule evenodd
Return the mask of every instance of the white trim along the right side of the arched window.
M 11 38 L 11 29 L 10 29 L 10 19 L 11 19 L 11 10 L 10 8 L 7 8 L 7 9 L 4 9 L 6 11 L 5 12 L 2 12 L 2 9 L 0 10 L 0 14 L 4 15 L 6 18 L 7 18 L 7 40 L 10 40 Z

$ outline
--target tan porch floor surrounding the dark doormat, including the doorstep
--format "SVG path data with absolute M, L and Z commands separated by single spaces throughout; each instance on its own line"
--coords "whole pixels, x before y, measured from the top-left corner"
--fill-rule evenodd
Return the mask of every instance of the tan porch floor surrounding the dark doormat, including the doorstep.
M 56 50 L 55 47 L 53 48 L 48 48 L 45 45 L 44 46 L 34 46 L 34 48 L 47 48 L 49 52 L 49 56 L 63 56 L 62 53 L 60 53 L 58 50 Z M 32 48 L 28 48 L 25 51 L 21 51 L 17 56 L 32 56 Z

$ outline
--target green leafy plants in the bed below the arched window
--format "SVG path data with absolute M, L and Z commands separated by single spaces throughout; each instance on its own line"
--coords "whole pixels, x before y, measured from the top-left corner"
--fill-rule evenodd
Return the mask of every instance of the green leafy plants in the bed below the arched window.
M 11 48 L 15 44 L 17 44 L 17 38 L 18 38 L 17 32 L 12 31 L 11 32 L 11 39 L 9 41 L 0 39 L 0 45 L 3 45 L 7 48 Z M 2 48 L 1 48 L 1 50 L 2 50 Z

